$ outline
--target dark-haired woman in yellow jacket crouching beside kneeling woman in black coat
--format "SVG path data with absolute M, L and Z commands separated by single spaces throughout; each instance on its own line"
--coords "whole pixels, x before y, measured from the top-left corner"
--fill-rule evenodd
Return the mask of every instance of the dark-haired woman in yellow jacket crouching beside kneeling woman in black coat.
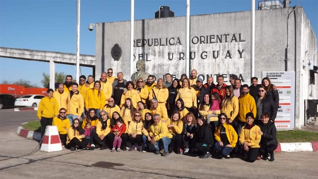
M 254 162 L 259 154 L 260 128 L 255 125 L 255 117 L 252 112 L 247 113 L 245 118 L 246 124 L 239 134 L 239 143 L 242 145 L 241 151 L 244 154 L 244 159 L 248 162 Z

